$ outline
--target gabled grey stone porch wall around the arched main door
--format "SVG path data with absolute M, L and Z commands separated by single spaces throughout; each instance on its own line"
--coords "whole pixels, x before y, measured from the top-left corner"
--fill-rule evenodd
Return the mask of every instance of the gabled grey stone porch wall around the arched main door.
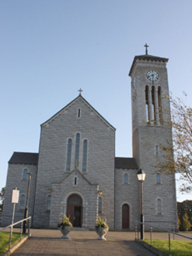
M 52 188 L 51 228 L 57 226 L 59 215 L 67 215 L 68 197 L 78 194 L 82 198 L 82 227 L 94 229 L 98 208 L 99 186 L 97 184 L 90 184 L 79 171 L 75 170 L 61 183 L 53 183 Z

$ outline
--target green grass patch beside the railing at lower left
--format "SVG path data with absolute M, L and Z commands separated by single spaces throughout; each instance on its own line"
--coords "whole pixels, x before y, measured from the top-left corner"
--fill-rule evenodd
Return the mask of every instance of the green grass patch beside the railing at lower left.
M 24 235 L 22 235 L 23 237 Z M 9 249 L 9 232 L 0 232 L 0 255 Z M 20 233 L 12 233 L 12 246 L 20 240 Z

